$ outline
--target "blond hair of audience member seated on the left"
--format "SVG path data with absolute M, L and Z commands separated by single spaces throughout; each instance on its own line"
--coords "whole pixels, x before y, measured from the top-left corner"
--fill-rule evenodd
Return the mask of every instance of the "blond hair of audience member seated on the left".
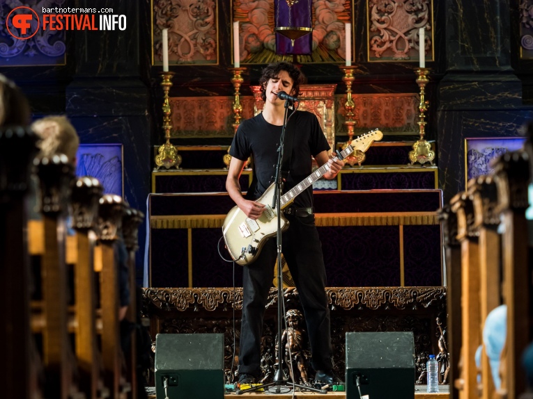
M 65 154 L 69 161 L 75 162 L 79 137 L 76 129 L 66 117 L 43 117 L 33 122 L 31 129 L 40 138 L 38 142 L 40 156 Z

